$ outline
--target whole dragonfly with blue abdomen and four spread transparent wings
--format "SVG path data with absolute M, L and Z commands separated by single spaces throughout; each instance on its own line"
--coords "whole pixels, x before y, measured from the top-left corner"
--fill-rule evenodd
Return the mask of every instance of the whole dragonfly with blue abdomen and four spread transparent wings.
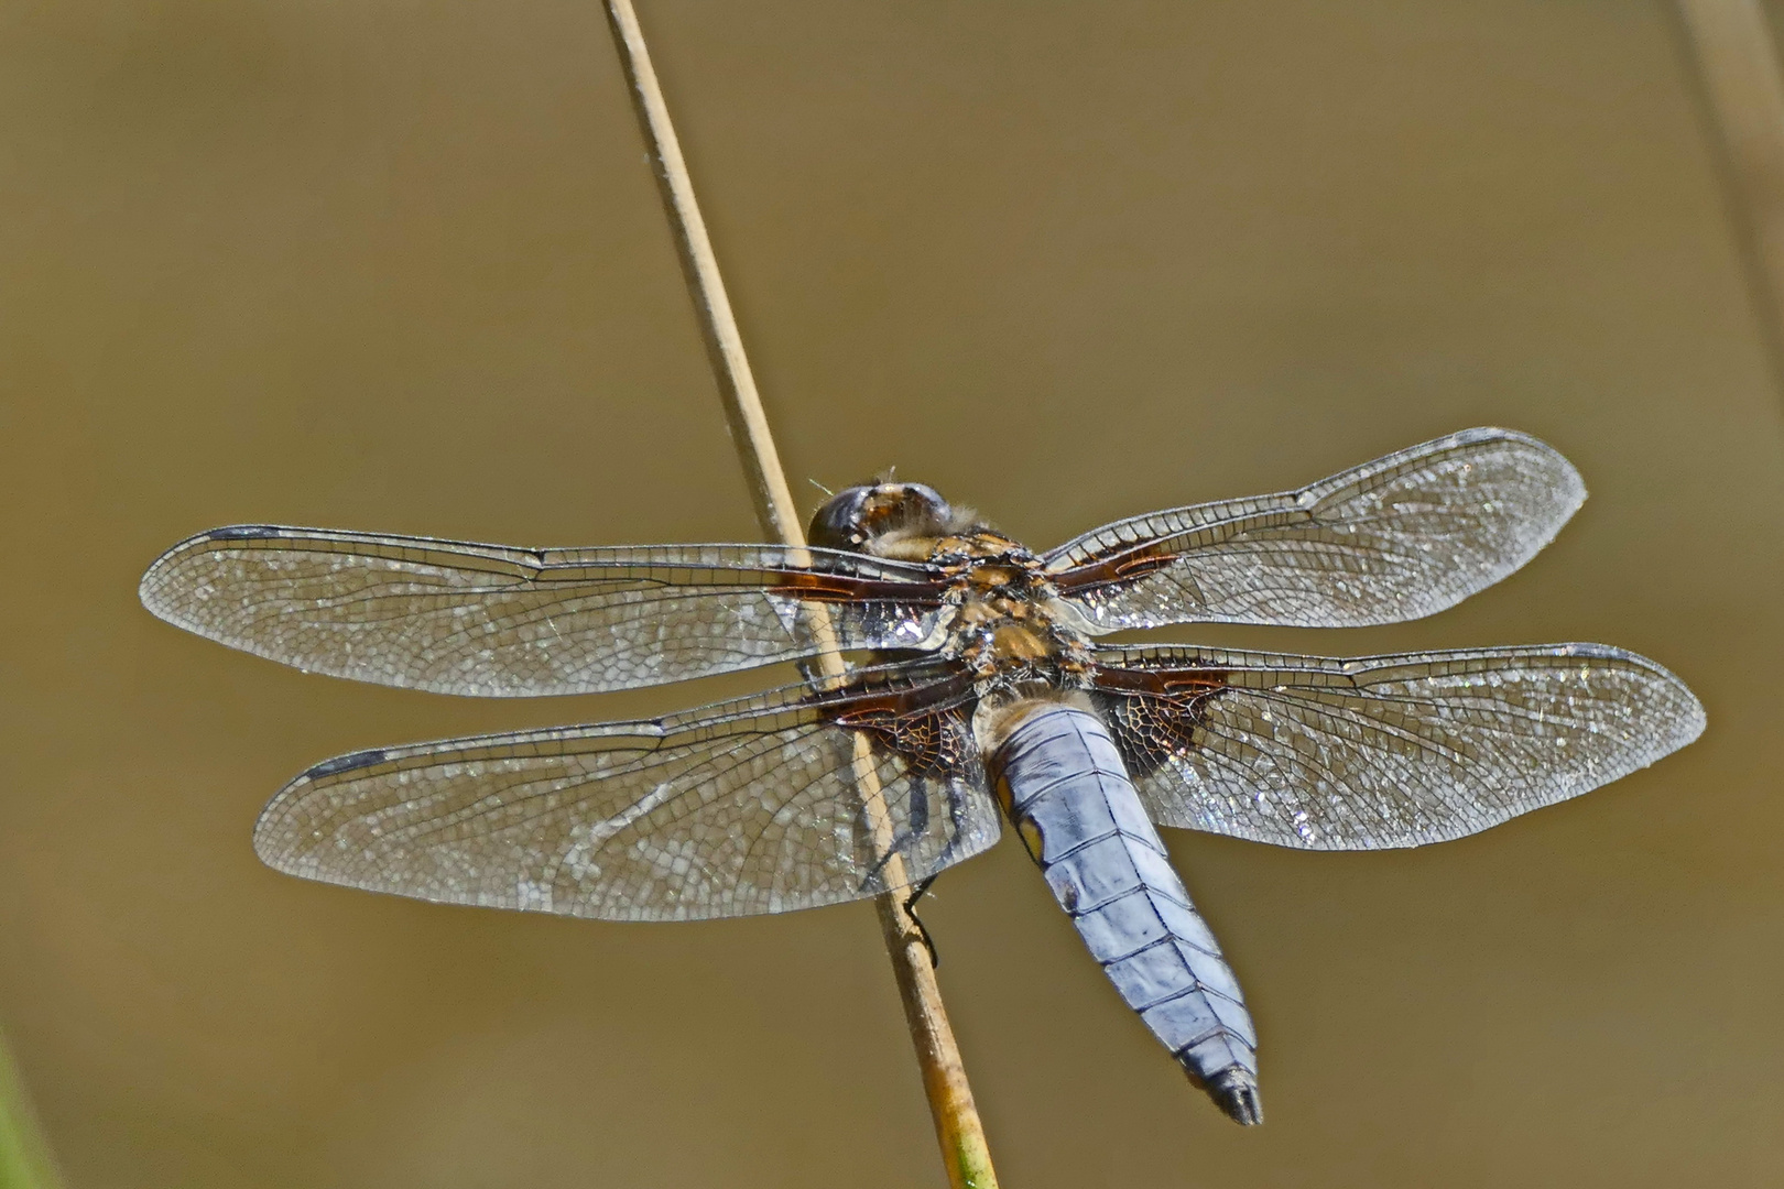
M 805 547 L 253 524 L 180 542 L 139 594 L 211 640 L 439 693 L 794 661 L 794 685 L 660 718 L 326 759 L 266 806 L 255 850 L 421 900 L 701 920 L 913 900 L 1008 820 L 1120 998 L 1229 1118 L 1260 1123 L 1254 1023 L 1158 827 L 1438 843 L 1654 763 L 1704 709 L 1600 644 L 1327 658 L 1101 636 L 1433 615 L 1529 562 L 1584 497 L 1556 449 L 1481 428 L 1047 553 L 888 480 L 830 497 Z

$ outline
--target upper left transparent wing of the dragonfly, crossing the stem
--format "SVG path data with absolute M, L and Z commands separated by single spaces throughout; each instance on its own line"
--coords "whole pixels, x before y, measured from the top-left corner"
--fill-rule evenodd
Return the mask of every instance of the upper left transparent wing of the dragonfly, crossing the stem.
M 826 549 L 508 549 L 426 537 L 237 526 L 143 576 L 161 619 L 257 656 L 378 685 L 521 697 L 624 690 L 819 651 L 922 647 L 924 569 Z

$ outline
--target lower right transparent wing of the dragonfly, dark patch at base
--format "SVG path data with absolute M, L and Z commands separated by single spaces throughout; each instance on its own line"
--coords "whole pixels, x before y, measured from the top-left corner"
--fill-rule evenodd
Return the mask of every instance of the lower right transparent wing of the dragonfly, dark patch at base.
M 1704 731 L 1650 660 L 1602 644 L 1329 660 L 1099 649 L 1152 820 L 1309 850 L 1461 838 L 1645 768 Z

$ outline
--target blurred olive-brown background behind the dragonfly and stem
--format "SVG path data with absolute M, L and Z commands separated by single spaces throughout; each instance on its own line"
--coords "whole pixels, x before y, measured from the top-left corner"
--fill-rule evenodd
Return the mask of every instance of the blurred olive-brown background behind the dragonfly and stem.
M 1593 499 L 1434 620 L 1606 640 L 1706 738 L 1486 836 L 1174 834 L 1263 1034 L 1190 1089 L 1015 847 L 926 920 L 1010 1187 L 1775 1185 L 1784 435 L 1661 4 L 644 0 L 794 483 L 1033 545 L 1472 424 Z M 596 0 L 0 14 L 0 1023 L 77 1187 L 940 1184 L 865 904 L 610 925 L 305 884 L 305 765 L 658 713 L 310 677 L 153 620 L 273 521 L 751 540 Z

